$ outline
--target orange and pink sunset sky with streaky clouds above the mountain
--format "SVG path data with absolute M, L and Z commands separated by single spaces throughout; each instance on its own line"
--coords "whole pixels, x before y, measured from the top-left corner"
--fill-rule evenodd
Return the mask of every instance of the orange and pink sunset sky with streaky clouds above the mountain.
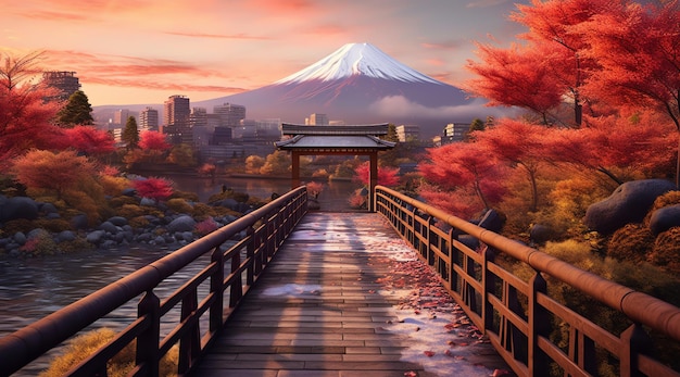
M 45 51 L 92 105 L 252 90 L 344 43 L 369 42 L 433 78 L 468 78 L 475 41 L 506 46 L 529 0 L 0 0 L 0 52 Z

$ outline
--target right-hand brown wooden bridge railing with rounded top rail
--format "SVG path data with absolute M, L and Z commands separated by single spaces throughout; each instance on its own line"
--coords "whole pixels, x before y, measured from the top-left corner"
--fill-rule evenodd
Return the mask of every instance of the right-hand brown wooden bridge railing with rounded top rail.
M 375 203 L 376 212 L 432 267 L 517 375 L 596 376 L 604 357 L 620 376 L 680 376 L 655 357 L 652 350 L 658 344 L 647 335 L 650 330 L 678 344 L 677 306 L 389 188 L 376 188 Z M 479 242 L 475 250 L 466 246 L 474 243 L 470 238 Z M 527 264 L 534 275 L 528 281 L 515 276 L 495 262 L 501 254 Z M 562 304 L 549 294 L 547 281 L 555 280 L 622 313 L 630 326 L 612 334 Z M 557 342 L 551 339 L 555 327 L 566 334 Z

